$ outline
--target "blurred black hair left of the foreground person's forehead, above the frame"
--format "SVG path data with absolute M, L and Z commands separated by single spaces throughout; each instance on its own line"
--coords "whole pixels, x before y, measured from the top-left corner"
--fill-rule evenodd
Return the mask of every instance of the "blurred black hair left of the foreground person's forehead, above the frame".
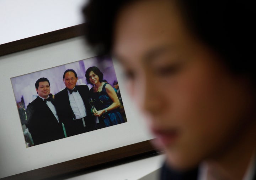
M 134 0 L 89 0 L 83 8 L 85 38 L 97 55 L 110 55 L 116 15 L 126 3 Z

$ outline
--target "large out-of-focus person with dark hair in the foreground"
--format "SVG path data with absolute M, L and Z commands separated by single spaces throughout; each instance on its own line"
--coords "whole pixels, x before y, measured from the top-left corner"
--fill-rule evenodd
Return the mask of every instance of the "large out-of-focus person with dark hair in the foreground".
M 256 178 L 254 1 L 90 0 L 84 13 L 165 151 L 161 179 Z

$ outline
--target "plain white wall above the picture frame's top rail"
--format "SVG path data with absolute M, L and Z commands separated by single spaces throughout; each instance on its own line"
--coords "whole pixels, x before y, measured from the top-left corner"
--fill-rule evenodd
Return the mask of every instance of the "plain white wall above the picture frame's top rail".
M 0 0 L 0 44 L 83 22 L 87 0 Z

